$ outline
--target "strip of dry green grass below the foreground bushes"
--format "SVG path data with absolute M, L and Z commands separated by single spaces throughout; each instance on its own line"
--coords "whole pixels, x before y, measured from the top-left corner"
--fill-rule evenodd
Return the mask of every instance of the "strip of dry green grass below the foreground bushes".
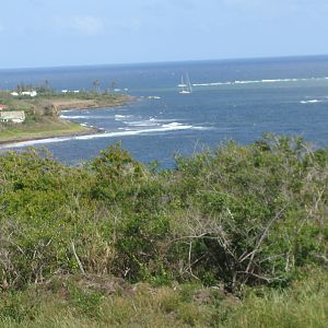
M 11 327 L 327 327 L 324 271 L 286 290 L 245 292 L 242 301 L 200 284 L 151 288 L 139 283 L 112 295 L 80 289 L 31 286 L 3 293 L 0 325 Z

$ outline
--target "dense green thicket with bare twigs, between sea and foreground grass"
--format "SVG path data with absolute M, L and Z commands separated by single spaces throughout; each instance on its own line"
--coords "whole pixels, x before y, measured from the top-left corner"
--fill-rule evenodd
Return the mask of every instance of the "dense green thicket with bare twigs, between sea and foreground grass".
M 0 157 L 0 284 L 58 272 L 167 284 L 285 285 L 327 265 L 328 150 L 269 136 L 156 172 L 119 144 L 83 167 Z

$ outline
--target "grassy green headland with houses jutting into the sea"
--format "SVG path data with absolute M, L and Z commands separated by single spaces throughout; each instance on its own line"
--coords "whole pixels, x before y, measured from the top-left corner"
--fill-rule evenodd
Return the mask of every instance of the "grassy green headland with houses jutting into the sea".
M 0 144 L 99 132 L 96 128 L 61 118 L 61 110 L 117 107 L 130 101 L 132 97 L 129 95 L 108 92 L 83 91 L 61 94 L 47 91 L 32 97 L 22 94 L 15 96 L 9 91 L 0 91 L 2 116 L 4 117 L 4 110 L 10 117 L 14 117 L 15 113 L 23 115 L 22 122 L 0 120 Z

